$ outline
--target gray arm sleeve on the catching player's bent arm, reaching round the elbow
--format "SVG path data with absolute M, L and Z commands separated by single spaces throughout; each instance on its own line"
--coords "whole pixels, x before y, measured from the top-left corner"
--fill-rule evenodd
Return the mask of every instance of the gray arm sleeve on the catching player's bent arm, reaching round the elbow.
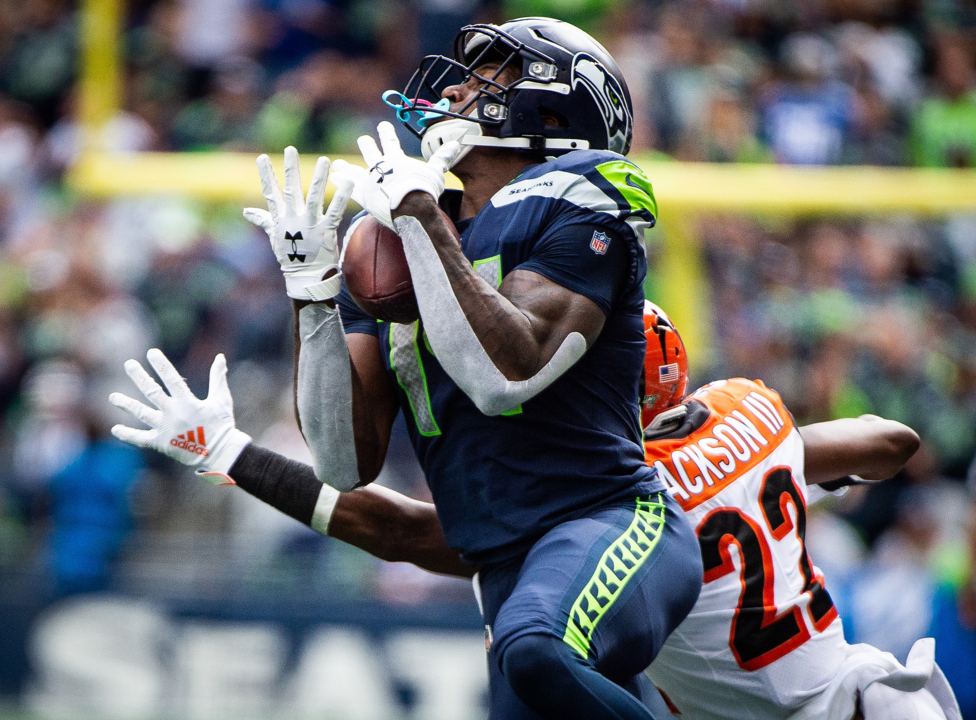
M 394 220 L 403 239 L 414 292 L 430 347 L 444 371 L 485 415 L 512 410 L 545 390 L 586 352 L 586 340 L 573 332 L 538 373 L 528 380 L 509 380 L 488 357 L 464 316 L 447 271 L 417 218 Z

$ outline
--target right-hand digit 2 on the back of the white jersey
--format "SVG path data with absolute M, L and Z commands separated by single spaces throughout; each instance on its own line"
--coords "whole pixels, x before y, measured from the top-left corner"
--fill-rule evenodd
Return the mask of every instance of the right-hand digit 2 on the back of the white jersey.
M 805 580 L 804 591 L 810 593 L 810 605 L 807 608 L 813 626 L 818 632 L 823 632 L 837 617 L 834 601 L 823 584 L 823 576 L 817 575 L 810 562 L 807 552 L 806 532 L 807 513 L 800 488 L 796 486 L 793 473 L 787 467 L 773 468 L 763 478 L 762 492 L 759 495 L 762 503 L 766 524 L 773 531 L 773 537 L 782 540 L 790 530 L 796 530 L 796 537 L 800 541 L 800 572 Z M 793 505 L 796 513 L 796 527 L 786 511 L 787 505 Z

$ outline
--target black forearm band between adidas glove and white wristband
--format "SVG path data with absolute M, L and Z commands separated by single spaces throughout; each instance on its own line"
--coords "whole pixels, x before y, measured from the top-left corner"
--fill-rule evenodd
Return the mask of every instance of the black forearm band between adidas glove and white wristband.
M 229 474 L 242 490 L 258 500 L 301 523 L 312 524 L 322 483 L 310 465 L 252 443 L 244 448 Z

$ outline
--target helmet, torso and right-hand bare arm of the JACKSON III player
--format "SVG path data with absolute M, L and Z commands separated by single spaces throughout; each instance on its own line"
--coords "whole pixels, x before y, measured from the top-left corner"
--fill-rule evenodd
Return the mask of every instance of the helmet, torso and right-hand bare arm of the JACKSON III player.
M 776 392 L 741 378 L 679 402 L 681 384 L 662 381 L 686 372 L 681 338 L 660 309 L 649 314 L 647 462 L 695 527 L 705 568 L 698 602 L 647 670 L 674 714 L 960 718 L 931 639 L 907 668 L 844 640 L 804 545 L 807 503 L 890 477 L 917 449 L 915 433 L 872 416 L 797 428 Z

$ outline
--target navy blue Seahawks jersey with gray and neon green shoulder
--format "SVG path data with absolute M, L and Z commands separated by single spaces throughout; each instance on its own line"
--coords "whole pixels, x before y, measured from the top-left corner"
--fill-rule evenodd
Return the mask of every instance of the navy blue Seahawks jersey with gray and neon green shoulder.
M 504 415 L 483 415 L 447 376 L 422 322 L 378 322 L 345 289 L 339 295 L 346 332 L 379 338 L 444 534 L 470 562 L 514 557 L 594 506 L 663 487 L 644 463 L 637 404 L 641 232 L 655 212 L 637 167 L 615 153 L 577 151 L 531 166 L 458 223 L 465 256 L 494 287 L 531 270 L 607 316 L 575 366 Z

